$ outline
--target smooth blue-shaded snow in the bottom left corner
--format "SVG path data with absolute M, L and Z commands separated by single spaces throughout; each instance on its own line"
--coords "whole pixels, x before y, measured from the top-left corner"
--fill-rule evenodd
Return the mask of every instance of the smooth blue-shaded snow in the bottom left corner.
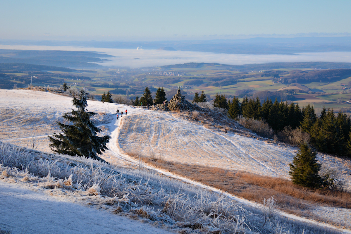
M 170 233 L 139 221 L 0 181 L 0 226 L 20 233 Z

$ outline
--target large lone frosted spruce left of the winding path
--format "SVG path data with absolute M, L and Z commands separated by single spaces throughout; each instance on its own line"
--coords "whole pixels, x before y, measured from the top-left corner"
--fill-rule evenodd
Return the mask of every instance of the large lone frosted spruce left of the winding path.
M 86 91 L 81 89 L 79 99 L 73 98 L 72 102 L 78 110 L 72 109 L 72 112 L 62 117 L 73 124 L 66 125 L 57 122 L 63 134 L 54 133 L 53 137 L 48 136 L 51 141 L 51 150 L 59 154 L 78 155 L 104 161 L 98 154 L 105 152 L 106 144 L 110 141 L 111 136 L 97 136 L 101 129 L 96 127 L 90 119 L 97 113 L 85 111 L 88 106 Z

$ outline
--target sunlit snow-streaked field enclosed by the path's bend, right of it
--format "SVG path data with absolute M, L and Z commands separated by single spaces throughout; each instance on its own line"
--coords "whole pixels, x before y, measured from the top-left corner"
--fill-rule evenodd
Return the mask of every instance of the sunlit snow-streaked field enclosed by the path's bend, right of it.
M 145 114 L 144 114 L 145 113 Z M 118 144 L 125 152 L 154 153 L 166 160 L 242 170 L 266 176 L 289 176 L 289 163 L 296 147 L 285 147 L 234 133 L 223 134 L 169 112 L 144 110 L 122 120 Z M 351 164 L 328 155 L 318 155 L 320 163 L 335 168 L 351 188 Z

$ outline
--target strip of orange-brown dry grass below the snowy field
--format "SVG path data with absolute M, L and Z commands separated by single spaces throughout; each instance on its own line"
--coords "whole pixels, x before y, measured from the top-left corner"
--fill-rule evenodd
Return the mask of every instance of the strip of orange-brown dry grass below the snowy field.
M 128 153 L 139 159 L 138 153 Z M 262 203 L 273 196 L 280 209 L 294 214 L 308 213 L 309 203 L 351 208 L 351 193 L 330 190 L 310 190 L 294 185 L 290 180 L 232 171 L 217 167 L 186 165 L 165 161 L 160 158 L 150 160 L 140 157 L 143 162 L 166 169 L 172 173 L 221 189 L 242 198 Z M 308 202 L 307 202 L 308 201 Z M 305 211 L 304 211 L 305 210 Z

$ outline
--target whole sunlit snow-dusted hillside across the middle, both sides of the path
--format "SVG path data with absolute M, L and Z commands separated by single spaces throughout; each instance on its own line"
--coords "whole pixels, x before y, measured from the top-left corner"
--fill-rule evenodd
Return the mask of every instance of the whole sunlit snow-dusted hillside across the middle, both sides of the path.
M 0 89 L 0 141 L 30 147 L 32 135 L 38 137 L 38 150 L 51 152 L 47 135 L 58 133 L 57 121 L 71 111 L 72 98 L 52 93 Z M 127 116 L 116 119 L 117 110 L 127 109 Z M 88 101 L 89 111 L 101 113 L 94 117 L 103 130 L 112 136 L 109 150 L 101 156 L 120 166 L 135 166 L 126 152 L 160 154 L 169 161 L 222 167 L 261 175 L 289 178 L 289 163 L 297 148 L 269 143 L 264 139 L 205 128 L 171 112 L 158 112 L 114 103 Z M 107 113 L 102 114 L 102 113 Z M 334 168 L 351 189 L 351 163 L 328 155 L 318 155 L 320 163 Z M 344 220 L 346 209 L 319 210 L 320 214 L 339 212 Z M 351 222 L 351 216 L 348 218 Z M 347 221 L 346 221 L 347 222 Z M 349 223 L 350 223 L 349 222 Z

